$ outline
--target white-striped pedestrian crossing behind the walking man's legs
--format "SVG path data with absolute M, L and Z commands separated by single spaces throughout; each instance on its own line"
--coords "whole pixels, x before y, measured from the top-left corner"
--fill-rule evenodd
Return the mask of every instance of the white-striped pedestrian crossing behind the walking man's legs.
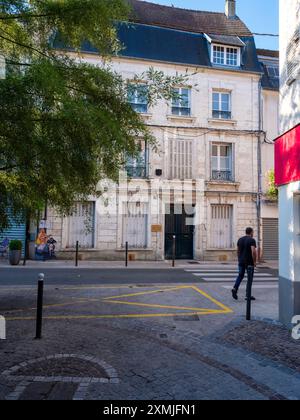
M 199 280 L 211 283 L 234 283 L 238 276 L 238 268 L 236 266 L 209 266 L 204 265 L 202 267 L 195 267 L 185 269 L 187 273 L 192 274 L 197 277 Z M 245 276 L 247 279 L 247 275 Z M 254 281 L 266 283 L 266 282 L 278 282 L 278 277 L 274 275 L 271 271 L 267 272 L 266 270 L 256 269 L 254 274 Z

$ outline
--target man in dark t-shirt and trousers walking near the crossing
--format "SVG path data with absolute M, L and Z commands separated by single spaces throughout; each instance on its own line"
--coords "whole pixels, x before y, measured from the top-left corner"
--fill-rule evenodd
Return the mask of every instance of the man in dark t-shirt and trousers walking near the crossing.
M 240 238 L 238 241 L 239 275 L 236 279 L 235 286 L 232 289 L 232 297 L 235 300 L 238 300 L 238 291 L 244 280 L 246 271 L 248 279 L 253 279 L 257 259 L 256 242 L 253 236 L 254 230 L 252 228 L 247 228 L 246 236 Z M 255 298 L 251 296 L 251 300 L 255 300 Z

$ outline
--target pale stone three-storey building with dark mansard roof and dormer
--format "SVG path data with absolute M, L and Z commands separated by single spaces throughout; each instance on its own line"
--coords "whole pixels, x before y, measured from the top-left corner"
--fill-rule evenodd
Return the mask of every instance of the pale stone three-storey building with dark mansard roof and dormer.
M 172 257 L 175 240 L 178 259 L 235 259 L 246 227 L 254 227 L 262 246 L 263 219 L 277 218 L 265 199 L 278 101 L 266 63 L 276 67 L 276 56 L 258 56 L 233 0 L 225 13 L 132 4 L 134 23 L 119 27 L 124 50 L 112 60 L 114 70 L 129 81 L 149 67 L 170 76 L 187 72 L 189 79 L 177 87 L 180 99 L 153 107 L 146 82 L 130 90 L 156 148 L 137 139 L 140 157 L 124 168 L 130 179 L 123 174 L 117 185 L 99 185 L 101 197 L 76 203 L 68 218 L 49 209 L 49 233 L 64 258 L 73 257 L 79 241 L 87 259 L 123 258 L 128 242 L 131 259 L 163 260 Z M 101 65 L 91 47 L 82 57 Z

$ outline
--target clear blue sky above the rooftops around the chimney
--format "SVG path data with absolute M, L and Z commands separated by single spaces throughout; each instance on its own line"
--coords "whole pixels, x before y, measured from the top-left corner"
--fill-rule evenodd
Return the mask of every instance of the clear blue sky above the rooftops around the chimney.
M 211 12 L 224 12 L 225 0 L 147 0 L 152 3 L 167 6 L 183 7 L 193 10 L 209 10 Z M 237 14 L 248 28 L 255 33 L 279 32 L 279 5 L 278 0 L 237 0 Z M 258 48 L 277 50 L 278 38 L 257 36 Z

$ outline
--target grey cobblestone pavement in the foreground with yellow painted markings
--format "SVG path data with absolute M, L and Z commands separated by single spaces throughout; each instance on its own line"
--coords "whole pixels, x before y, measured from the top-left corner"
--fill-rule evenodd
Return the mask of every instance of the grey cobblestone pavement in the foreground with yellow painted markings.
M 257 290 L 256 320 L 220 284 L 49 286 L 43 339 L 35 288 L 0 288 L 0 399 L 300 399 L 300 343 L 274 322 L 277 291 Z

